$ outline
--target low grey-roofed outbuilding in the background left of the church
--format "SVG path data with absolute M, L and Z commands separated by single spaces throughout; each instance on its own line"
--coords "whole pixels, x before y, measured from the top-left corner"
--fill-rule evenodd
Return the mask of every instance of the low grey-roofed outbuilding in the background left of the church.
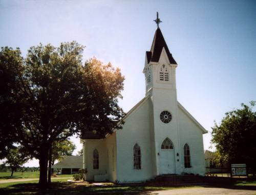
M 62 156 L 62 160 L 52 165 L 52 172 L 75 174 L 82 168 L 82 156 Z

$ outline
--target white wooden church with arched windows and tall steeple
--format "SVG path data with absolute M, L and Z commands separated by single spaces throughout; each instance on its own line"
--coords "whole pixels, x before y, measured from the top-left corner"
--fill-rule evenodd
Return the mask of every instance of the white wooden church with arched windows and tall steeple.
M 82 136 L 88 181 L 126 183 L 163 174 L 204 175 L 207 131 L 177 101 L 177 66 L 158 27 L 145 55 L 145 97 L 126 114 L 121 130 L 104 138 L 89 132 Z

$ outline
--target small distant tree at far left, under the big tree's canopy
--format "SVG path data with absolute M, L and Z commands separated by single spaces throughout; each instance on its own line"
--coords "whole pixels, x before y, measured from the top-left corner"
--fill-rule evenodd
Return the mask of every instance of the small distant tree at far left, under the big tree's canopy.
M 11 168 L 12 177 L 14 171 L 16 171 L 17 168 L 21 167 L 23 164 L 25 164 L 30 159 L 30 156 L 25 148 L 16 147 L 8 150 L 6 159 L 7 161 L 5 163 Z

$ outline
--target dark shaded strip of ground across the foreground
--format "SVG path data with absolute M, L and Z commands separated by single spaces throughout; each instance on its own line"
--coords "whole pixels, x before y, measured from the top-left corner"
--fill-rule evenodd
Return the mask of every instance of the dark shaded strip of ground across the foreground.
M 85 184 L 75 184 L 68 182 L 53 182 L 49 188 L 40 190 L 36 183 L 13 184 L 6 188 L 0 188 L 0 194 L 158 194 L 156 190 L 179 189 L 192 186 L 152 186 L 152 185 L 116 185 L 116 186 L 94 186 Z M 256 190 L 255 185 L 233 185 L 233 184 L 215 184 L 215 185 L 197 185 L 195 187 L 207 188 L 226 188 L 240 190 Z

